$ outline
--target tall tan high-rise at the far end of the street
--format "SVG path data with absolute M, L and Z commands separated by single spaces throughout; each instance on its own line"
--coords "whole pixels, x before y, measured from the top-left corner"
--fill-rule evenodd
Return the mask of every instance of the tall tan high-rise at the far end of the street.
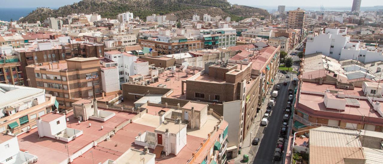
M 288 11 L 288 28 L 292 29 L 303 29 L 304 28 L 304 19 L 306 11 L 301 8 L 297 8 L 296 10 Z

